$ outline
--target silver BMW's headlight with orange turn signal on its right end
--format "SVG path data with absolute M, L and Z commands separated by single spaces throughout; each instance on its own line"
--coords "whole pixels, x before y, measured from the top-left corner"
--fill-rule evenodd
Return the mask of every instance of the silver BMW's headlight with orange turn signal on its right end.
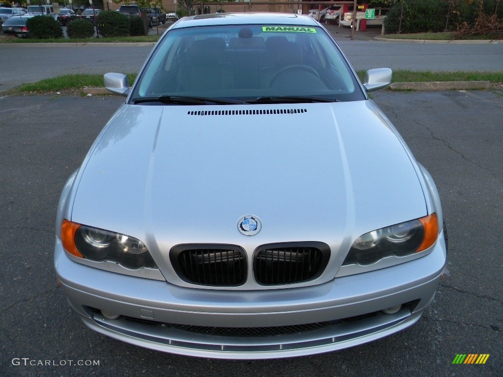
M 406 256 L 432 246 L 438 237 L 437 215 L 373 230 L 358 237 L 344 260 L 346 264 L 371 264 L 387 256 Z

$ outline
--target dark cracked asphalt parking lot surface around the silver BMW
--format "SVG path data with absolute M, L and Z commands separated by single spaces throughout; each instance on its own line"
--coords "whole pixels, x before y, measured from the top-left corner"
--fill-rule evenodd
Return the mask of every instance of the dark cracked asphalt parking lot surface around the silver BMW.
M 164 354 L 87 329 L 55 279 L 55 211 L 66 178 L 124 98 L 0 98 L 0 375 L 501 375 L 503 92 L 380 90 L 372 98 L 438 185 L 449 230 L 444 279 L 421 321 L 400 333 L 266 361 Z M 452 364 L 458 353 L 490 356 Z

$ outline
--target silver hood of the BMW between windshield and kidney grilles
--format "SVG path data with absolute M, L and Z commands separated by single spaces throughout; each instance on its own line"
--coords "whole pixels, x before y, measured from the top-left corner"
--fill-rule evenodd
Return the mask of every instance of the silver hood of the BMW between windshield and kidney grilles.
M 417 166 L 370 101 L 124 105 L 74 185 L 72 221 L 149 248 L 322 241 L 425 216 Z M 262 230 L 237 229 L 244 215 Z

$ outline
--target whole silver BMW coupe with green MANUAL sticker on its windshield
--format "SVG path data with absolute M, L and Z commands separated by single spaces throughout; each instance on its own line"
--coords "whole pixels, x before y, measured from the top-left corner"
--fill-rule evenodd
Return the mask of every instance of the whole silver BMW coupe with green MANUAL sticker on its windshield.
M 420 319 L 439 195 L 330 34 L 294 14 L 183 18 L 63 188 L 55 269 L 93 330 L 214 358 L 327 352 Z

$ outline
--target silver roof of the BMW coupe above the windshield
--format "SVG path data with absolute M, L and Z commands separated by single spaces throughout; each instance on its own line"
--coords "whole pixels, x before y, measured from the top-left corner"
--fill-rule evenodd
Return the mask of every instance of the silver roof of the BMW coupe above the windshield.
M 306 15 L 294 13 L 212 13 L 206 15 L 184 17 L 173 25 L 174 29 L 193 26 L 211 25 L 242 25 L 242 24 L 269 24 L 269 25 L 298 25 L 317 26 L 318 23 Z

